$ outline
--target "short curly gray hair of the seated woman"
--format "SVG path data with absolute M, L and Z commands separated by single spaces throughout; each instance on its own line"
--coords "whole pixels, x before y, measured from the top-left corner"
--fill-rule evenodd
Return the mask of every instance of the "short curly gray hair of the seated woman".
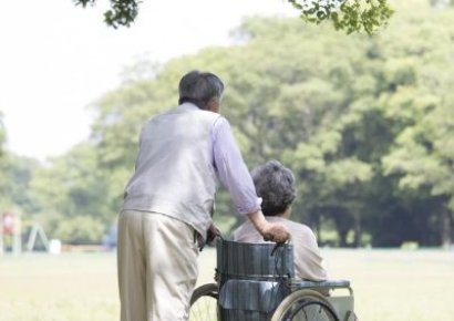
M 293 173 L 278 161 L 270 161 L 251 172 L 256 191 L 262 198 L 261 211 L 266 216 L 282 214 L 297 196 Z

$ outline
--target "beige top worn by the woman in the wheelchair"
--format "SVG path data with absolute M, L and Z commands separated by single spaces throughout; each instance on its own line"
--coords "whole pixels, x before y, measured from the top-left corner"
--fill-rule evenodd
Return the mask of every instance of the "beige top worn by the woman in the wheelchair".
M 306 225 L 283 217 L 267 216 L 266 218 L 270 222 L 281 222 L 289 229 L 295 249 L 296 276 L 311 281 L 327 280 L 327 271 L 322 267 L 322 257 L 312 230 Z M 265 242 L 250 221 L 245 221 L 235 230 L 234 239 L 244 242 Z

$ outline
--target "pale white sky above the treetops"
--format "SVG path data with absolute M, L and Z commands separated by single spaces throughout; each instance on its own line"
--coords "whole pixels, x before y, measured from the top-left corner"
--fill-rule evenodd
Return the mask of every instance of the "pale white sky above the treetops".
M 120 84 L 124 68 L 228 45 L 229 32 L 246 15 L 297 13 L 286 0 L 144 0 L 134 24 L 114 30 L 103 21 L 107 4 L 2 1 L 0 112 L 7 149 L 40 161 L 62 155 L 89 137 L 89 106 Z

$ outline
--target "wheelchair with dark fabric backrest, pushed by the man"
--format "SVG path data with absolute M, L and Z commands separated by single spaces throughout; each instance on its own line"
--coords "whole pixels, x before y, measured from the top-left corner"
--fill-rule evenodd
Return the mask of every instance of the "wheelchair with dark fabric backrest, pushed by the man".
M 350 281 L 296 278 L 290 244 L 218 238 L 216 250 L 216 283 L 195 289 L 189 321 L 357 320 Z

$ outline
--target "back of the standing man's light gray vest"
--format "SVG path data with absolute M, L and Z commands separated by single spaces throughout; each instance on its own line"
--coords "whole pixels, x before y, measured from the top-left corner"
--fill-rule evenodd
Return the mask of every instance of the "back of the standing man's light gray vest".
M 185 103 L 149 120 L 123 208 L 162 213 L 203 235 L 216 191 L 210 132 L 218 117 Z

